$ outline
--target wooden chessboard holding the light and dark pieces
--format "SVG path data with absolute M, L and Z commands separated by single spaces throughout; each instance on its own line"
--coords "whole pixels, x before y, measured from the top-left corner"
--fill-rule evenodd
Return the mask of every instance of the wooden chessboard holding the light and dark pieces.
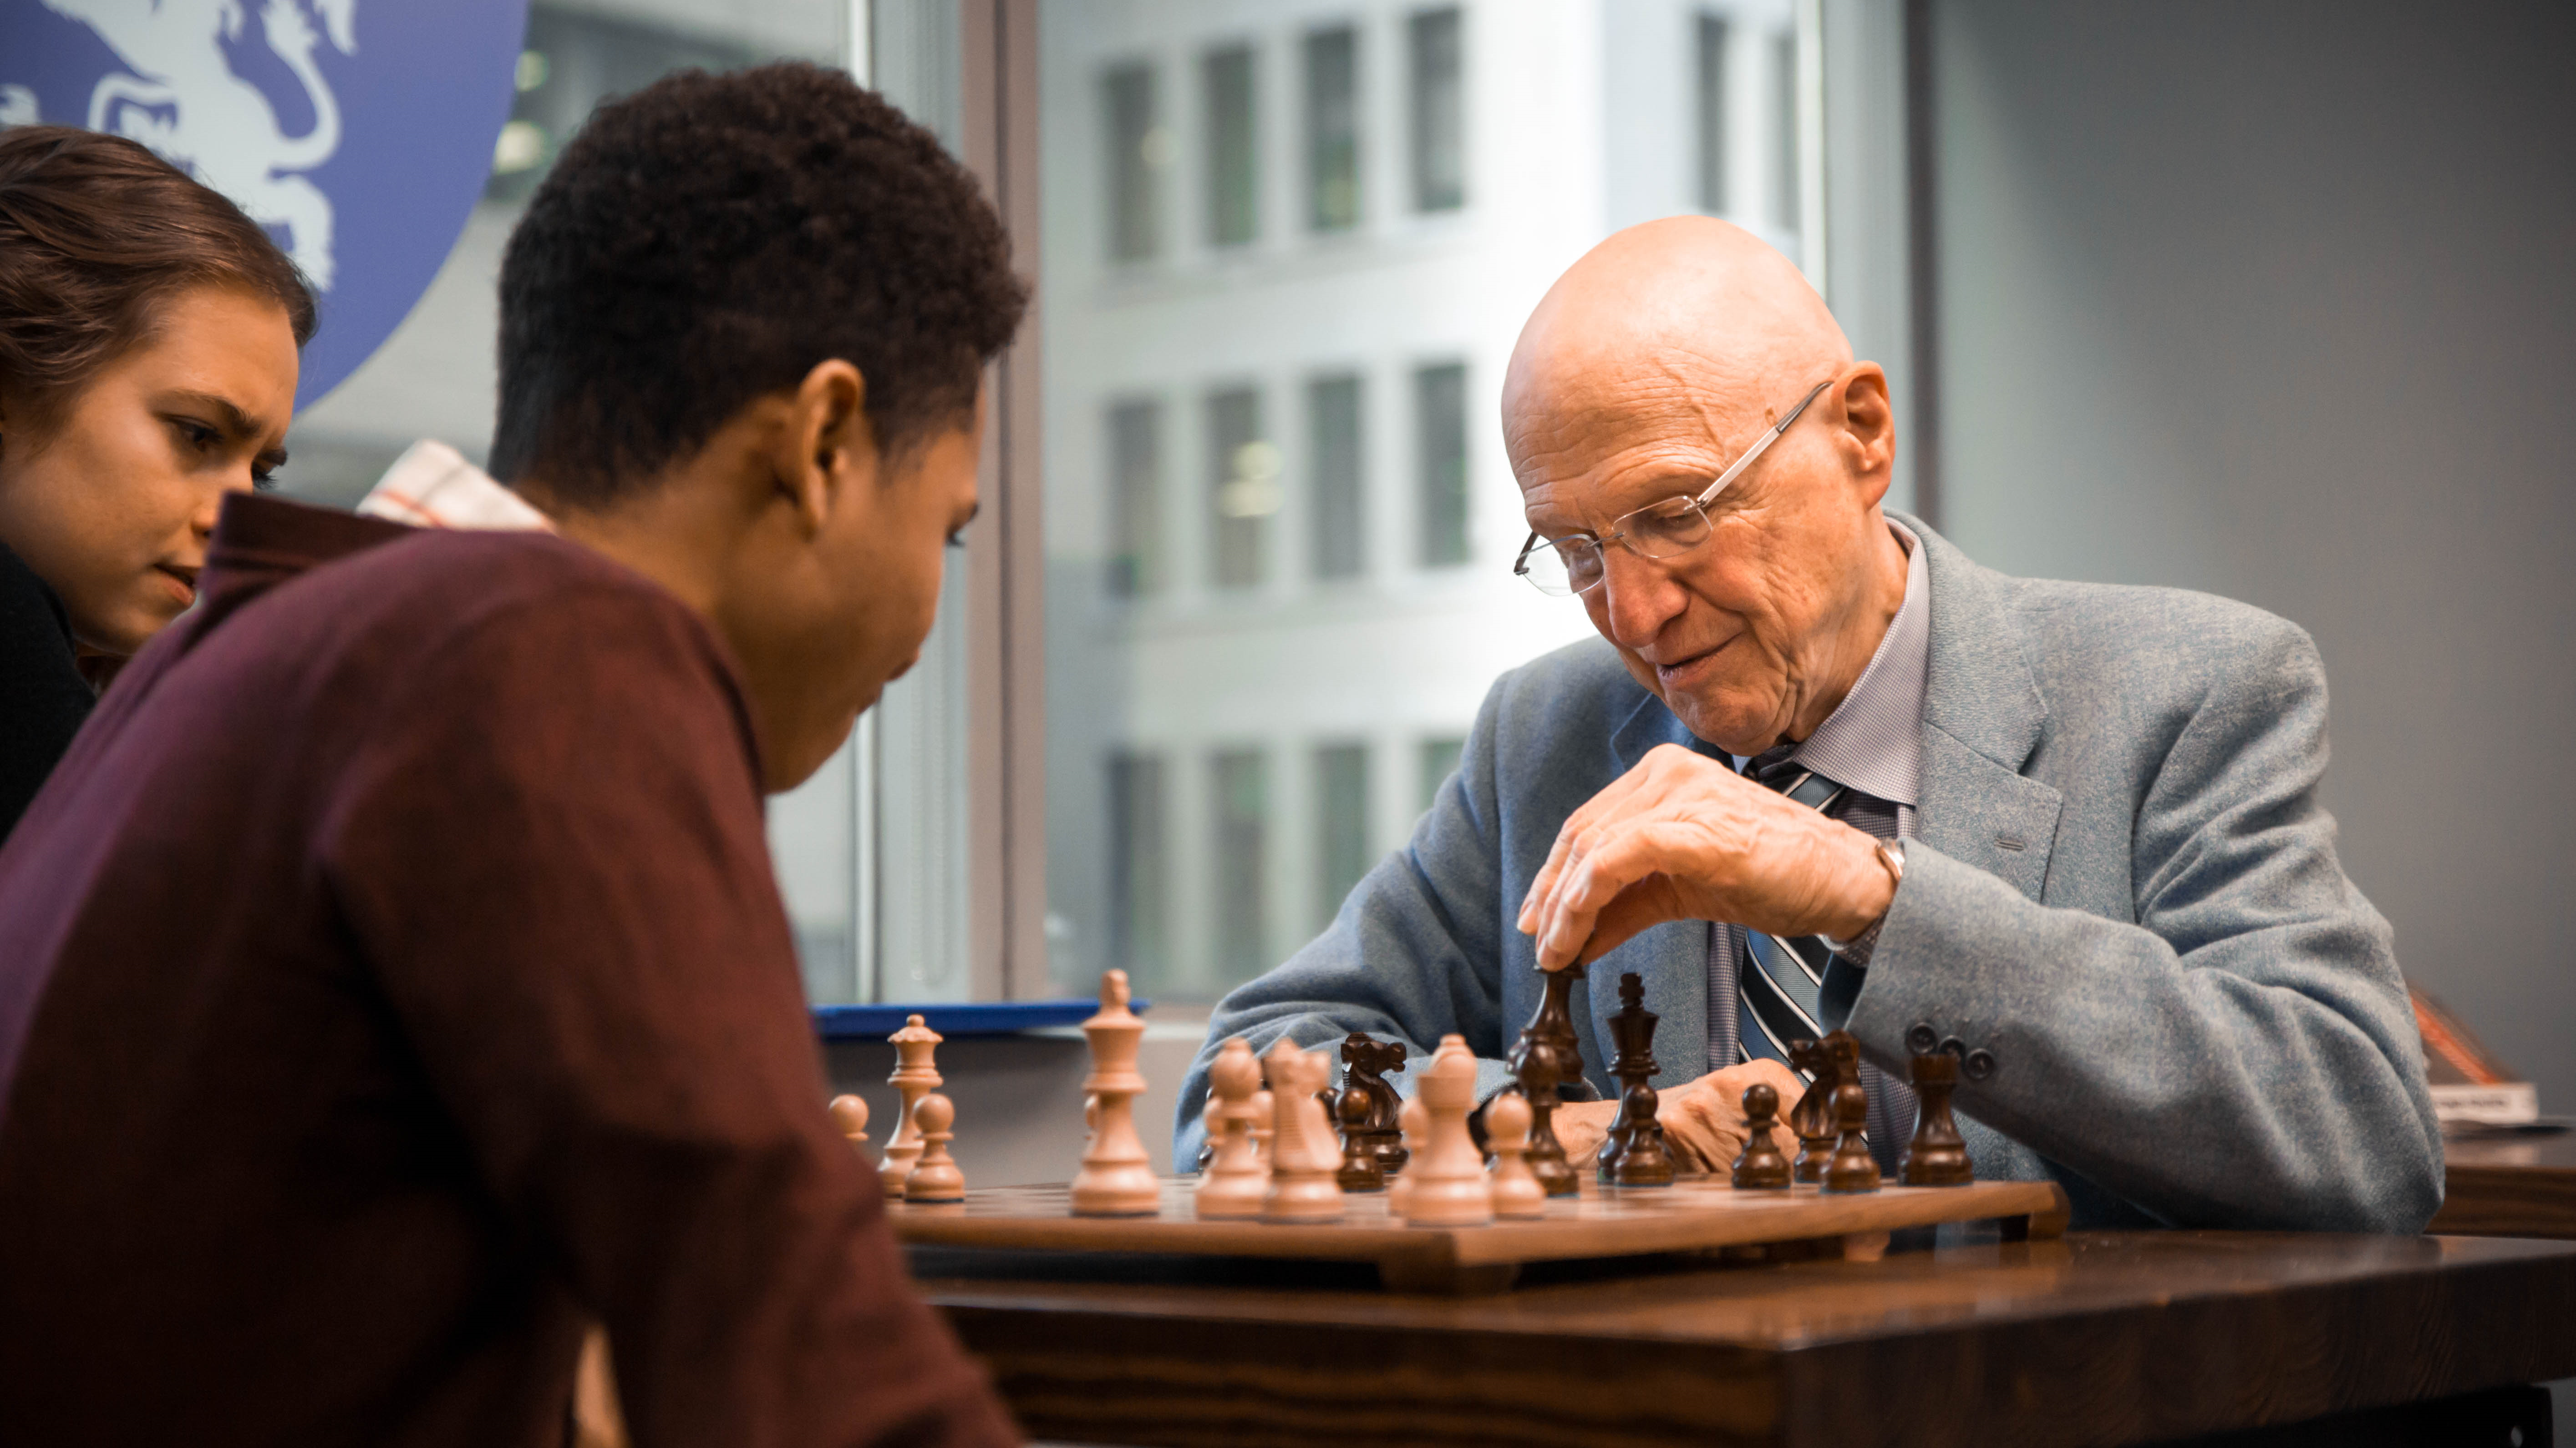
M 2056 1183 L 1971 1183 L 1829 1196 L 1811 1185 L 1734 1190 L 1723 1177 L 1669 1188 L 1597 1188 L 1548 1201 L 1535 1221 L 1409 1226 L 1383 1193 L 1342 1198 L 1342 1221 L 1200 1221 L 1195 1177 L 1164 1177 L 1154 1216 L 1074 1216 L 1064 1185 L 981 1188 L 966 1201 L 886 1203 L 894 1234 L 922 1247 L 1038 1252 L 1170 1252 L 1198 1257 L 1303 1257 L 1376 1262 L 1394 1291 L 1502 1291 L 1522 1262 L 1636 1257 L 1785 1242 L 1842 1242 L 1945 1221 L 2002 1221 L 2007 1237 L 2056 1237 L 2066 1193 Z

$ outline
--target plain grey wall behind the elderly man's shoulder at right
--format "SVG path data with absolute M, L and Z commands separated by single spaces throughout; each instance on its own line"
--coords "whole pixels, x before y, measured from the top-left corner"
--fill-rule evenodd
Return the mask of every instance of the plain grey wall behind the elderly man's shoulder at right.
M 2576 8 L 1919 18 L 1942 528 L 2306 626 L 2347 871 L 2576 1110 Z

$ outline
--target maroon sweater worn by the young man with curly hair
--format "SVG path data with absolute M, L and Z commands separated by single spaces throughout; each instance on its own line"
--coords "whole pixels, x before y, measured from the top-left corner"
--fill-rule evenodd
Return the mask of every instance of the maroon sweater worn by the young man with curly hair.
M 551 536 L 224 508 L 0 850 L 0 1440 L 1012 1443 L 832 1134 L 737 672 Z

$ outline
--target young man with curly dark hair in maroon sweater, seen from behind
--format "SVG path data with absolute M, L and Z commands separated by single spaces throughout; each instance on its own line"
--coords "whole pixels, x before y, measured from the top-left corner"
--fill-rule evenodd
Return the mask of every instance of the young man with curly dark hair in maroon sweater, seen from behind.
M 603 108 L 502 265 L 554 531 L 237 497 L 0 850 L 0 1425 L 1007 1443 L 912 1293 L 762 837 L 917 657 L 1025 304 L 814 67 Z

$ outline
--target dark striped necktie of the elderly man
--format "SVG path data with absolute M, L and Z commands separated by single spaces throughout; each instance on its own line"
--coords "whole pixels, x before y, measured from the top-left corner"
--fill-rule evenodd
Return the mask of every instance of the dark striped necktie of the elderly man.
M 1783 745 L 1747 760 L 1744 776 L 1808 809 L 1834 814 L 1839 806 L 1844 814 L 1852 814 L 1847 819 L 1852 827 L 1868 830 L 1868 824 L 1883 824 L 1883 830 L 1868 830 L 1870 835 L 1896 835 L 1893 809 L 1862 809 L 1878 801 L 1801 765 L 1790 757 L 1793 750 L 1795 745 Z M 1886 817 L 1883 822 L 1878 819 L 1880 814 Z M 1826 966 L 1832 958 L 1834 953 L 1826 948 L 1824 935 L 1765 935 L 1762 930 L 1744 930 L 1744 953 L 1736 961 L 1736 1043 L 1747 1062 L 1770 1056 L 1795 1072 L 1798 1067 L 1788 1059 L 1788 1043 L 1816 1041 L 1826 1033 L 1826 1002 L 1834 1005 L 1837 1018 L 1850 1015 L 1850 997 L 1860 989 L 1860 971 L 1844 966 L 1829 974 Z M 1798 1072 L 1798 1077 L 1814 1080 L 1808 1072 Z M 1860 1064 L 1860 1085 L 1870 1092 L 1870 1154 L 1878 1157 L 1883 1170 L 1893 1170 L 1901 1141 L 1914 1123 L 1914 1087 L 1870 1062 Z

